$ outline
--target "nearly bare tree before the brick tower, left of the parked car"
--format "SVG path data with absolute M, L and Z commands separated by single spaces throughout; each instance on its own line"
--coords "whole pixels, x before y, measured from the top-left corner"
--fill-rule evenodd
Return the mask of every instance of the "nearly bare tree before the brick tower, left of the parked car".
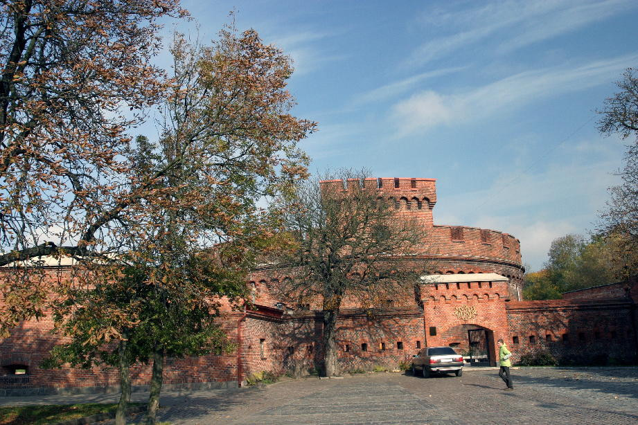
M 335 178 L 360 183 L 365 172 L 343 170 Z M 340 182 L 302 182 L 285 210 L 284 228 L 290 246 L 279 259 L 295 279 L 279 288 L 288 300 L 322 300 L 324 314 L 324 373 L 338 374 L 335 341 L 339 309 L 346 300 L 363 308 L 379 307 L 388 299 L 414 300 L 414 275 L 395 269 L 395 256 L 411 253 L 420 241 L 418 226 L 397 219 L 394 205 L 377 199 L 376 185 L 344 192 Z M 412 279 L 406 279 L 409 274 Z

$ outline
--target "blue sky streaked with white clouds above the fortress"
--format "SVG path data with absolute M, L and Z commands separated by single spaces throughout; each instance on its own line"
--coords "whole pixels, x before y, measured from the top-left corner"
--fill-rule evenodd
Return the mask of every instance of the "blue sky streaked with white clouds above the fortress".
M 638 66 L 638 1 L 183 1 L 172 30 L 213 39 L 235 10 L 294 60 L 294 115 L 319 123 L 311 172 L 437 179 L 435 224 L 511 233 L 538 270 L 596 229 L 623 141 L 596 129 Z M 199 28 L 199 29 L 197 29 Z M 158 61 L 166 60 L 160 55 Z

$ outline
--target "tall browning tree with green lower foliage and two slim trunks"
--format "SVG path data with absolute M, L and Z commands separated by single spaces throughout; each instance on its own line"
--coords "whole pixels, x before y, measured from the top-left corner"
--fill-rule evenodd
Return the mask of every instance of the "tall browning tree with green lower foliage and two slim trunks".
M 211 46 L 190 46 L 176 35 L 171 52 L 175 75 L 161 107 L 161 136 L 156 143 L 139 137 L 127 152 L 127 194 L 135 199 L 102 225 L 112 237 L 101 243 L 112 244 L 126 271 L 114 266 L 109 273 L 100 264 L 105 288 L 76 291 L 57 315 L 73 338 L 57 353 L 58 364 L 114 364 L 116 357 L 102 353 L 118 341 L 126 382 L 130 362 L 152 359 L 149 424 L 165 356 L 227 347 L 213 323 L 219 300 L 242 296 L 269 235 L 270 215 L 256 202 L 285 196 L 305 176 L 307 158 L 296 143 L 315 126 L 288 113 L 290 60 L 254 30 L 223 30 Z M 152 196 L 140 196 L 139 188 Z M 87 299 L 96 299 L 90 309 Z M 93 325 L 78 332 L 83 316 Z M 124 390 L 122 406 L 126 399 Z

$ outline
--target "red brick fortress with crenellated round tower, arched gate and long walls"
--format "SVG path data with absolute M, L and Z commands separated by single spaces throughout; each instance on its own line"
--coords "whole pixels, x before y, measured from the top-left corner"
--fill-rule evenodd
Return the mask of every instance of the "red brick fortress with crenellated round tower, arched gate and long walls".
M 631 343 L 631 337 L 636 341 L 636 298 L 620 299 L 619 287 L 608 285 L 567 294 L 566 298 L 574 298 L 571 301 L 517 301 L 523 272 L 518 239 L 497 230 L 435 225 L 432 215 L 436 204 L 435 183 L 434 179 L 322 183 L 326 190 L 340 190 L 344 195 L 363 185 L 375 190 L 380 199 L 390 201 L 399 219 L 416 219 L 423 228 L 423 243 L 414 255 L 392 260 L 392 266 L 423 275 L 462 275 L 464 278 L 473 273 L 477 275 L 475 282 L 421 284 L 420 300 L 393 300 L 393 305 L 382 309 L 361 311 L 354 303 L 344 305 L 337 332 L 339 363 L 344 370 L 369 369 L 375 365 L 396 368 L 426 345 L 454 345 L 459 352 L 464 352 L 469 348 L 468 331 L 472 329 L 486 330 L 492 363 L 496 360 L 497 338 L 508 341 L 515 361 L 523 354 L 542 351 L 574 359 L 583 352 L 603 355 L 604 351 L 614 358 L 635 355 L 636 345 Z M 1 273 L 11 271 L 6 269 Z M 52 268 L 46 273 L 50 279 L 69 275 L 64 268 Z M 497 273 L 508 281 L 478 282 L 482 273 Z M 317 368 L 323 356 L 321 300 L 290 306 L 294 311 L 285 314 L 278 309 L 280 300 L 272 291 L 281 280 L 292 278 L 294 273 L 285 266 L 254 271 L 249 284 L 253 288 L 250 301 L 256 306 L 255 311 L 246 311 L 244 315 L 244 312 L 227 309 L 220 318 L 229 338 L 240 341 L 239 352 L 166 359 L 165 382 L 185 386 L 218 382 L 236 386 L 238 380 L 263 370 L 281 373 Z M 636 291 L 638 286 L 634 284 L 630 293 Z M 591 298 L 596 302 L 576 298 Z M 608 298 L 616 299 L 605 301 Z M 0 388 L 35 390 L 117 385 L 114 370 L 40 369 L 39 362 L 48 350 L 63 341 L 48 333 L 51 327 L 50 318 L 30 320 L 12 329 L 11 336 L 0 341 L 0 366 L 4 372 L 0 376 Z M 26 366 L 27 376 L 10 374 L 15 365 Z M 134 365 L 132 375 L 134 385 L 148 384 L 150 366 Z

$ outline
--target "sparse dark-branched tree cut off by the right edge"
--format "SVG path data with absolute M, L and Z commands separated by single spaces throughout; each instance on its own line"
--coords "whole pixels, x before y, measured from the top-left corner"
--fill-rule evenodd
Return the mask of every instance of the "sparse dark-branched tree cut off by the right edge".
M 599 111 L 599 130 L 606 135 L 619 134 L 628 143 L 625 165 L 619 171 L 622 183 L 610 188 L 610 201 L 603 213 L 601 231 L 615 235 L 617 262 L 621 262 L 623 280 L 628 281 L 638 266 L 638 76 L 628 68 L 616 83 L 620 89 L 605 100 Z M 633 138 L 633 140 L 631 140 Z

